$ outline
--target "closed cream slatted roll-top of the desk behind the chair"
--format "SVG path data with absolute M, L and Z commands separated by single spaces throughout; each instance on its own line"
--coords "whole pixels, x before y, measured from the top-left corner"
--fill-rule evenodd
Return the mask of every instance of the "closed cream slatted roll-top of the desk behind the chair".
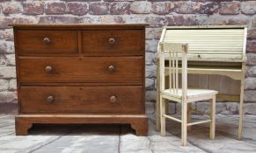
M 165 27 L 162 42 L 189 45 L 188 60 L 245 61 L 245 26 Z

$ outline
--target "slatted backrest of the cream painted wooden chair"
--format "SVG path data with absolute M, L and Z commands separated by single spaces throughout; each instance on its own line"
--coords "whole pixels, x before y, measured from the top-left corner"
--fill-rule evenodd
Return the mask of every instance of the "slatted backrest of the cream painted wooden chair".
M 181 61 L 182 96 L 187 97 L 187 44 L 160 43 L 160 90 L 165 90 L 165 57 L 168 55 L 169 90 L 172 94 L 179 94 L 179 69 Z

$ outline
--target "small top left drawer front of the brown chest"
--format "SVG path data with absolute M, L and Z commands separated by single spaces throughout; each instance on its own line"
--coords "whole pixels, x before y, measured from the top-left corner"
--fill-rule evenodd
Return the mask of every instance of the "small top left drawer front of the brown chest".
M 78 52 L 77 31 L 17 31 L 18 54 L 70 54 Z

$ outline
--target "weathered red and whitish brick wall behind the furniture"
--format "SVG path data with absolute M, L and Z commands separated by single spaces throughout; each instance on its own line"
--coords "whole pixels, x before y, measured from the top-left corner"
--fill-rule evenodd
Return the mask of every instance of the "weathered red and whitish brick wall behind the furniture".
M 0 101 L 16 102 L 13 33 L 8 24 L 148 23 L 147 101 L 156 97 L 156 48 L 163 25 L 248 24 L 245 113 L 256 114 L 256 2 L 157 0 L 0 0 Z M 152 103 L 148 103 L 152 105 Z M 204 108 L 204 104 L 197 104 Z M 179 106 L 176 106 L 179 107 Z M 219 113 L 238 113 L 238 104 L 219 103 Z

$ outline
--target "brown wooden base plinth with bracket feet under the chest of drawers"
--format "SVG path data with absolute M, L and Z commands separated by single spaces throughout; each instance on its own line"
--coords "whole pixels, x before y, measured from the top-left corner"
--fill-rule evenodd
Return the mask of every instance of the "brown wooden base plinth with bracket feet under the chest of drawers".
M 148 135 L 146 115 L 17 115 L 16 135 L 26 136 L 33 123 L 120 123 L 131 124 L 137 136 Z

